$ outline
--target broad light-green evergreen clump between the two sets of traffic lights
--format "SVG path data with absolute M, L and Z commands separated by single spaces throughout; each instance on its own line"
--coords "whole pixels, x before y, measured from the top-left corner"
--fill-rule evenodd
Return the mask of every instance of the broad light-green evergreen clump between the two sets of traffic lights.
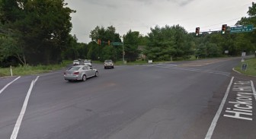
M 165 26 L 154 29 L 151 28 L 149 33 L 149 44 L 144 50 L 144 54 L 149 59 L 163 61 L 172 58 L 186 57 L 191 55 L 192 51 L 192 37 L 187 34 L 183 27 Z

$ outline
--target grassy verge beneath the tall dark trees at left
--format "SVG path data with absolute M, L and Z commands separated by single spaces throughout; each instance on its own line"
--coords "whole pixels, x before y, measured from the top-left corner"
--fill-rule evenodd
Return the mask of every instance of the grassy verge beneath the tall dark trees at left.
M 72 64 L 72 61 L 63 61 L 60 65 L 37 65 L 37 66 L 19 66 L 11 67 L 13 76 L 43 74 L 50 71 L 56 71 L 65 68 L 66 65 Z M 10 68 L 0 68 L 0 77 L 11 76 Z

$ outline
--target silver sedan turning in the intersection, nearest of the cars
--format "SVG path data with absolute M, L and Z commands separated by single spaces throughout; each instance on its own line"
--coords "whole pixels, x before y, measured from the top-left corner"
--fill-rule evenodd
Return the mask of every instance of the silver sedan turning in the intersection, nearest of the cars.
M 87 65 L 75 65 L 64 72 L 66 81 L 86 81 L 88 77 L 98 77 L 97 69 Z

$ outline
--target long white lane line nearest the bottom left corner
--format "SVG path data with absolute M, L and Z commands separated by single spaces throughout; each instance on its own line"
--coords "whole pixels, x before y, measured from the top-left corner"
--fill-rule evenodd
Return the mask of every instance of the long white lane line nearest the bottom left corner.
M 37 79 L 38 79 L 39 76 L 37 76 Z M 36 79 L 36 81 L 37 81 Z M 27 96 L 24 100 L 24 103 L 23 103 L 23 106 L 22 106 L 22 109 L 21 109 L 21 113 L 20 115 L 18 116 L 18 119 L 17 119 L 17 122 L 14 126 L 14 130 L 12 131 L 12 134 L 11 134 L 11 139 L 16 139 L 17 138 L 17 135 L 18 135 L 18 131 L 21 127 L 21 122 L 22 122 L 22 119 L 24 117 L 24 114 L 26 112 L 26 109 L 27 109 L 27 103 L 28 103 L 28 100 L 29 100 L 29 97 L 30 97 L 30 93 L 34 87 L 34 84 L 36 84 L 36 81 L 31 81 L 31 84 L 30 84 L 30 88 L 29 90 L 27 91 Z

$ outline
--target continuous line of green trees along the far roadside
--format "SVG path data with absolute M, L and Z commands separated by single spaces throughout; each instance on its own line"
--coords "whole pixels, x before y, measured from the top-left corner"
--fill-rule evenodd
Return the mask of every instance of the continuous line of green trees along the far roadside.
M 70 9 L 64 0 L 1 0 L 0 11 L 1 67 L 49 65 L 77 58 L 118 61 L 123 58 L 123 49 L 128 62 L 138 60 L 140 54 L 146 55 L 146 59 L 168 61 L 187 59 L 191 55 L 199 58 L 237 56 L 241 52 L 254 53 L 256 50 L 255 30 L 195 36 L 180 25 L 151 27 L 146 36 L 132 30 L 120 36 L 113 26 L 96 26 L 90 32 L 90 43 L 78 43 L 77 37 L 70 34 L 70 14 L 75 10 Z M 252 24 L 255 27 L 255 11 L 256 5 L 252 2 L 248 17 L 242 17 L 236 25 Z M 101 39 L 101 45 L 98 39 Z M 109 45 L 108 41 L 122 42 L 123 46 Z

